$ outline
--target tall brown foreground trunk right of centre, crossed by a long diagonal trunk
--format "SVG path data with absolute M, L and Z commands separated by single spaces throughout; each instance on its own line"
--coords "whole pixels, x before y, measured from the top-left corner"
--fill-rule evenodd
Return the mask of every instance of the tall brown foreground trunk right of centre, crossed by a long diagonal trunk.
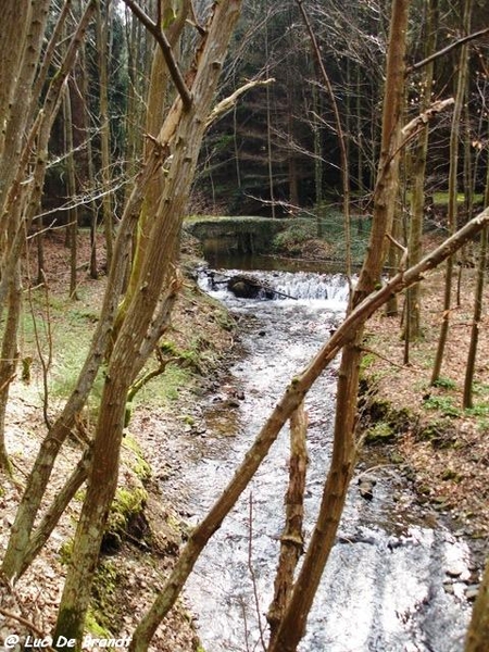
M 374 218 L 366 259 L 353 294 L 359 305 L 375 288 L 386 254 L 386 235 L 390 231 L 398 193 L 399 151 L 402 102 L 404 97 L 404 57 L 409 0 L 392 4 L 389 49 L 384 97 L 383 138 Z M 353 474 L 356 447 L 356 396 L 362 356 L 363 323 L 347 343 L 338 374 L 335 436 L 329 473 L 324 486 L 319 514 L 286 614 L 268 652 L 294 652 L 301 640 L 314 595 L 333 548 L 342 514 L 347 489 Z

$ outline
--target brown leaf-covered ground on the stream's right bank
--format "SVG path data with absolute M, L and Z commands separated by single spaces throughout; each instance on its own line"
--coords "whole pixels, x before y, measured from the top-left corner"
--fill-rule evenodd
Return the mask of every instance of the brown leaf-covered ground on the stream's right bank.
M 428 243 L 428 247 L 430 244 Z M 366 412 L 372 409 L 367 441 L 385 442 L 396 463 L 413 479 L 421 501 L 450 518 L 462 535 L 489 548 L 489 287 L 485 289 L 479 328 L 473 408 L 463 410 L 465 369 L 471 340 L 476 269 L 462 268 L 460 303 L 456 278 L 441 375 L 430 376 L 442 319 L 443 269 L 422 286 L 422 338 L 409 348 L 403 364 L 403 300 L 399 316 L 378 312 L 367 323 L 362 363 Z M 371 446 L 374 446 L 373 443 Z M 480 561 L 480 560 L 479 560 Z

